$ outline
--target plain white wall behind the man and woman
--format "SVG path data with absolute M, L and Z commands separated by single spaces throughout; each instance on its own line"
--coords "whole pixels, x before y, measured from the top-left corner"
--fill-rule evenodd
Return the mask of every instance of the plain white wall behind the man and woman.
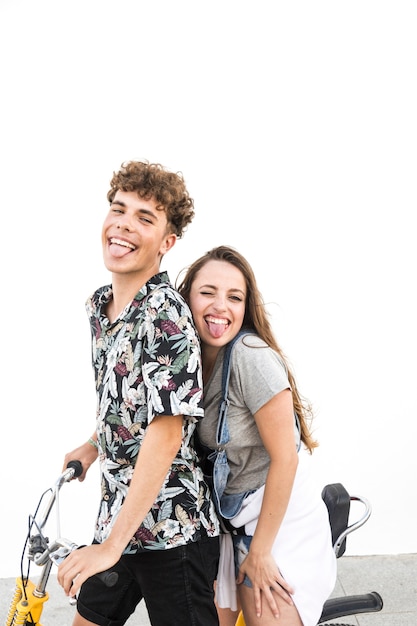
M 29 513 L 95 417 L 84 301 L 128 159 L 181 170 L 196 202 L 166 257 L 254 266 L 316 409 L 319 483 L 373 514 L 349 554 L 417 552 L 415 2 L 1 0 L 2 523 Z M 96 468 L 62 492 L 91 538 Z

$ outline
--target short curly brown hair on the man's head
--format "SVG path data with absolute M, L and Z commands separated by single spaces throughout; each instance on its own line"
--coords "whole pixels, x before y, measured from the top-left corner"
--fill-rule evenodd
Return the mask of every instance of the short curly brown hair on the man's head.
M 112 203 L 116 192 L 135 191 L 144 200 L 153 198 L 164 210 L 168 225 L 180 239 L 194 217 L 190 198 L 181 172 L 170 172 L 159 163 L 128 161 L 113 173 L 107 199 Z

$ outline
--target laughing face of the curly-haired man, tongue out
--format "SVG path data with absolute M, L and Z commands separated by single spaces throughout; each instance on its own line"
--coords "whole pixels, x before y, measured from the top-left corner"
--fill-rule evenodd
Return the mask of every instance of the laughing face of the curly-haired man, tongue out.
M 103 257 L 114 274 L 146 274 L 159 271 L 161 257 L 172 248 L 176 235 L 168 233 L 165 211 L 153 199 L 134 191 L 117 191 L 104 220 Z

